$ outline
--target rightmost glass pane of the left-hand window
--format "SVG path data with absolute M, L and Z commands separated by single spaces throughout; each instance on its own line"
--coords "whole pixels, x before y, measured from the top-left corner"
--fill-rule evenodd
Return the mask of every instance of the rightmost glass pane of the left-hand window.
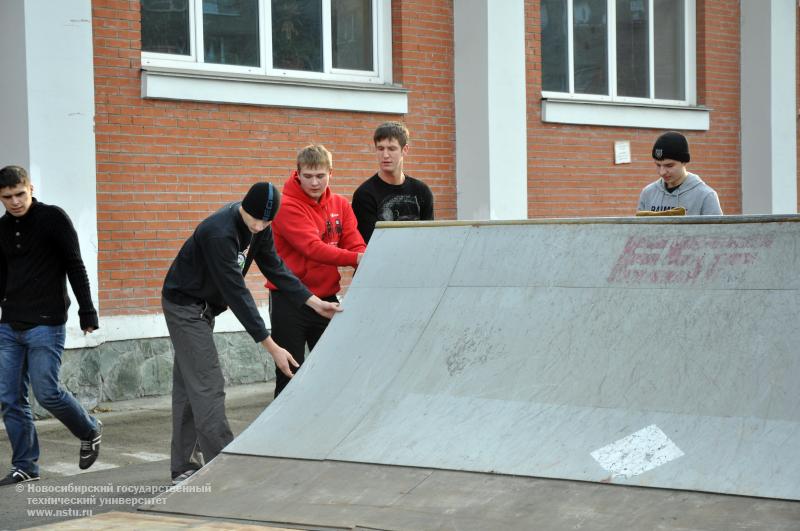
M 331 0 L 333 67 L 372 70 L 372 0 Z

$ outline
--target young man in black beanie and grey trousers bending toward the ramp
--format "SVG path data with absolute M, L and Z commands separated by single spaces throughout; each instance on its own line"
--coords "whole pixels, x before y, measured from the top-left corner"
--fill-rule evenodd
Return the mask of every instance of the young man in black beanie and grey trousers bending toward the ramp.
M 280 194 L 270 183 L 254 184 L 240 203 L 231 203 L 197 226 L 164 280 L 161 303 L 175 349 L 172 375 L 173 483 L 198 470 L 233 440 L 225 416 L 224 378 L 214 346 L 214 317 L 230 307 L 252 338 L 270 353 L 287 377 L 298 364 L 272 340 L 244 281 L 251 261 L 298 308 L 311 307 L 330 319 L 338 303 L 321 300 L 289 271 L 275 253 L 272 223 Z

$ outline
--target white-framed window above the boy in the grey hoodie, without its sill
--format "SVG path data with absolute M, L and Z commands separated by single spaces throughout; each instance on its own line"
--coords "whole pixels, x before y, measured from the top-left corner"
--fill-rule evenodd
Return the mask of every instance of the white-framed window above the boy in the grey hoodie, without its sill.
M 541 0 L 545 98 L 695 104 L 694 0 Z

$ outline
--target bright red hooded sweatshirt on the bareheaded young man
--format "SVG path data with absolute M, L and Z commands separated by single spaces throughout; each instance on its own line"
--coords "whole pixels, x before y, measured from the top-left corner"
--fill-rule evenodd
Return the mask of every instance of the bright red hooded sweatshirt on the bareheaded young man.
M 300 187 L 296 170 L 283 186 L 272 233 L 275 250 L 317 297 L 338 293 L 341 289 L 338 268 L 356 267 L 358 253 L 367 249 L 350 203 L 331 192 L 330 187 L 319 202 L 310 198 Z M 271 282 L 266 286 L 278 289 Z

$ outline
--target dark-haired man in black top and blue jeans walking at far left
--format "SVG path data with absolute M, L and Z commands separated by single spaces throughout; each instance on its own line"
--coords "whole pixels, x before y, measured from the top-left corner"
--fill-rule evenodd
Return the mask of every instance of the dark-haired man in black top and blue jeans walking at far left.
M 102 424 L 58 381 L 70 301 L 78 300 L 84 333 L 98 328 L 78 235 L 60 208 L 33 197 L 28 172 L 0 170 L 0 406 L 11 442 L 10 485 L 39 479 L 39 441 L 28 385 L 36 400 L 81 440 L 78 465 L 92 466 L 100 452 Z

